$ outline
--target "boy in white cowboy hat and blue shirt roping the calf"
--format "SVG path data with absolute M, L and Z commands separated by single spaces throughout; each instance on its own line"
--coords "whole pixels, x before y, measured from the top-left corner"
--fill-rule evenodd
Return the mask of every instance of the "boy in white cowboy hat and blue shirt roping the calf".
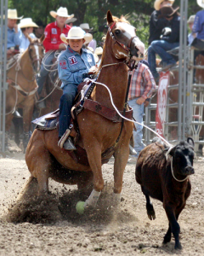
M 77 96 L 77 86 L 88 77 L 88 73 L 96 72 L 94 55 L 88 49 L 83 49 L 83 44 L 92 40 L 92 35 L 84 33 L 81 27 L 73 26 L 65 34 L 61 34 L 61 40 L 68 44 L 58 58 L 59 79 L 62 81 L 63 95 L 59 103 L 59 147 L 67 150 L 75 150 L 75 146 L 69 137 L 69 125 L 71 119 L 71 107 Z

